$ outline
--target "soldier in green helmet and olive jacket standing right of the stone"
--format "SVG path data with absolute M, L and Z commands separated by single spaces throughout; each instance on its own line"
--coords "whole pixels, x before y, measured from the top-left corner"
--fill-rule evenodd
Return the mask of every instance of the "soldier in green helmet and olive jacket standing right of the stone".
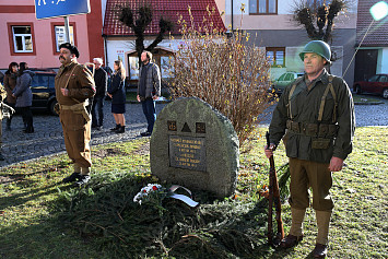
M 313 40 L 299 54 L 305 74 L 285 87 L 273 111 L 269 127 L 273 155 L 281 139 L 290 164 L 292 224 L 280 247 L 291 248 L 303 239 L 303 221 L 313 192 L 318 234 L 313 250 L 315 258 L 327 256 L 329 223 L 334 207 L 330 197 L 332 172 L 342 169 L 352 152 L 354 105 L 346 82 L 329 74 L 331 50 L 327 43 Z

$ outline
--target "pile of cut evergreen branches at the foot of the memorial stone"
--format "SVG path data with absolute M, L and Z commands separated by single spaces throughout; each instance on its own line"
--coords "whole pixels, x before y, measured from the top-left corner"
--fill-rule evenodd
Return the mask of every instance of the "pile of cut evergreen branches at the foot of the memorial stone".
M 83 244 L 110 258 L 282 258 L 290 252 L 267 243 L 266 200 L 215 200 L 212 193 L 193 191 L 197 208 L 163 195 L 134 203 L 149 183 L 151 176 L 102 174 L 86 188 L 63 189 L 50 204 L 50 222 L 62 227 L 58 233 L 78 233 L 70 250 L 78 252 Z M 93 244 L 84 244 L 90 239 Z

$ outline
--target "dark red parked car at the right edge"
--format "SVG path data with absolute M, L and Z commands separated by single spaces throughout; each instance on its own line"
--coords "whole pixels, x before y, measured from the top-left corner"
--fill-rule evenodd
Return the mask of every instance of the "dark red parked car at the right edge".
M 374 74 L 367 81 L 357 81 L 353 84 L 353 91 L 356 94 L 367 92 L 388 98 L 388 74 Z

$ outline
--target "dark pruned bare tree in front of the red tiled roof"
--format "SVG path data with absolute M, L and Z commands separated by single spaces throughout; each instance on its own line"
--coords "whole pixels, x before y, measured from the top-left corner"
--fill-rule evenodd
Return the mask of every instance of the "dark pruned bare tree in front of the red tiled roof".
M 174 23 L 168 19 L 161 17 L 158 21 L 160 32 L 153 43 L 144 47 L 144 31 L 151 24 L 153 19 L 153 10 L 150 3 L 142 2 L 138 10 L 133 10 L 129 4 L 119 7 L 119 21 L 128 27 L 132 28 L 136 35 L 136 50 L 139 57 L 139 64 L 141 63 L 140 56 L 143 50 L 153 52 L 157 44 L 164 39 L 166 32 L 171 32 L 174 27 Z

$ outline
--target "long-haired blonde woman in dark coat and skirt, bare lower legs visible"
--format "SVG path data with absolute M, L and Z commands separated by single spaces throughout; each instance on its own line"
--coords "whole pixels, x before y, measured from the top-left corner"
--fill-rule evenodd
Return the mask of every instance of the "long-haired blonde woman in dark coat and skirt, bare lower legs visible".
M 115 72 L 111 76 L 110 89 L 108 95 L 111 98 L 111 114 L 114 115 L 116 127 L 110 130 L 116 133 L 124 133 L 126 131 L 126 70 L 122 67 L 121 60 L 116 60 L 114 63 Z

